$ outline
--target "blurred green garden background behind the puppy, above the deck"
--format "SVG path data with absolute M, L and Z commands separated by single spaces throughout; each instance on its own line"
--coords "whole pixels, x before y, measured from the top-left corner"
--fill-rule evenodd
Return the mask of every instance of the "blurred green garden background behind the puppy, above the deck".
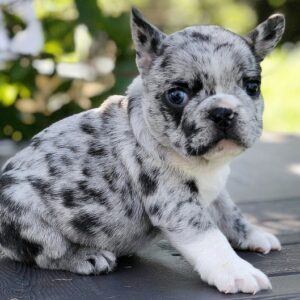
M 284 13 L 283 40 L 262 64 L 264 126 L 300 132 L 298 0 L 0 0 L 0 140 L 26 141 L 125 92 L 137 75 L 132 5 L 166 33 L 214 23 L 245 34 Z

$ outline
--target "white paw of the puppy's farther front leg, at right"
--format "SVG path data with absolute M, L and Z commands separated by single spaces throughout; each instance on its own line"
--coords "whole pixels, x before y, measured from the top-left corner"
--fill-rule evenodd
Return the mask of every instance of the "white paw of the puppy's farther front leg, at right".
M 255 228 L 250 232 L 247 239 L 240 244 L 239 248 L 267 254 L 271 250 L 280 251 L 281 244 L 275 235 Z

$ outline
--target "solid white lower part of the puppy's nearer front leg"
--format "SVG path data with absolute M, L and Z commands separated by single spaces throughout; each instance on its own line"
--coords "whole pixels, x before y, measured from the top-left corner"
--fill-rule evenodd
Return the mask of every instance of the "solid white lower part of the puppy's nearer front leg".
M 267 276 L 241 259 L 219 230 L 205 232 L 189 243 L 173 241 L 173 244 L 195 266 L 201 278 L 221 292 L 255 294 L 271 288 Z

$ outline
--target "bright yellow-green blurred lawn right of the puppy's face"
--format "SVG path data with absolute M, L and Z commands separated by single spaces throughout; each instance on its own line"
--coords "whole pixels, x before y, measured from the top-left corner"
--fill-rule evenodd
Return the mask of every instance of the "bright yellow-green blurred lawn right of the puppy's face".
M 275 50 L 262 67 L 265 128 L 300 132 L 300 45 Z

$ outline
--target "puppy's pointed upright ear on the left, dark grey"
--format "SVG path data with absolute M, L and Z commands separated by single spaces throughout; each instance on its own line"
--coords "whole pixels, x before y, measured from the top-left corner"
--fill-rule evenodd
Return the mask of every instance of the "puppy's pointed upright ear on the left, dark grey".
M 131 33 L 136 49 L 136 63 L 141 74 L 146 73 L 152 61 L 159 55 L 165 35 L 146 21 L 136 9 L 131 11 Z

